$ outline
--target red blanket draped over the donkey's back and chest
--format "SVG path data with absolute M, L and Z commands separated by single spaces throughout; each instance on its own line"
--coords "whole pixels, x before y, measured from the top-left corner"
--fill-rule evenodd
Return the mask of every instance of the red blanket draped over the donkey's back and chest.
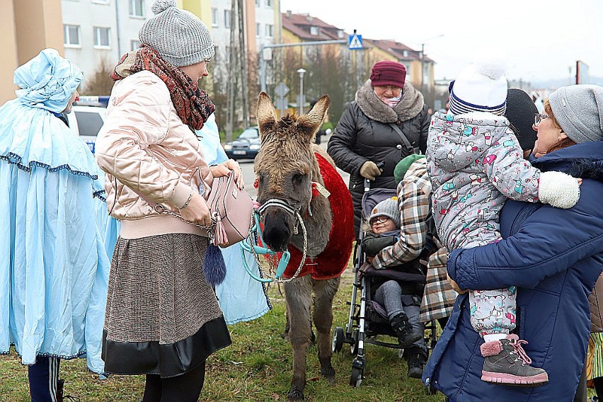
M 328 201 L 331 204 L 331 213 L 333 214 L 333 224 L 326 248 L 316 258 L 306 258 L 306 263 L 299 272 L 299 276 L 312 275 L 313 279 L 324 280 L 338 277 L 348 267 L 350 254 L 352 253 L 352 241 L 354 241 L 354 205 L 350 190 L 343 183 L 343 179 L 331 163 L 328 163 L 323 156 L 316 155 L 318 167 L 321 168 L 321 175 L 325 182 L 325 188 L 331 193 Z M 322 195 L 318 195 L 322 197 Z M 301 231 L 302 228 L 300 227 Z M 308 234 L 311 236 L 311 234 Z M 289 253 L 291 258 L 287 269 L 282 275 L 287 279 L 292 277 L 299 267 L 299 261 L 302 260 L 302 251 L 289 244 Z

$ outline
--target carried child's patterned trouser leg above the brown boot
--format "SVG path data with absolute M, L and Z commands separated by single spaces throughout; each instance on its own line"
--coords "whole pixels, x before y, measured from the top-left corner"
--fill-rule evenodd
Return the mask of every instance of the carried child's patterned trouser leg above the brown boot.
M 515 287 L 473 290 L 469 294 L 471 326 L 486 342 L 507 337 L 515 328 Z

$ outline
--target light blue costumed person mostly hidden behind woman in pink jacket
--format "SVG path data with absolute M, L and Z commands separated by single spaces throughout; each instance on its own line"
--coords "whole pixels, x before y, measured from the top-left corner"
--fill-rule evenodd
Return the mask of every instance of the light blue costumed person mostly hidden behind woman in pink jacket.
M 228 160 L 226 152 L 220 144 L 220 135 L 215 114 L 209 116 L 201 130 L 197 130 L 203 149 L 203 155 L 209 165 L 215 165 Z M 259 276 L 258 263 L 253 255 L 241 253 L 241 243 L 222 248 L 222 256 L 226 263 L 224 282 L 216 287 L 218 302 L 224 313 L 224 320 L 231 325 L 239 321 L 251 321 L 266 314 L 270 302 L 265 289 L 247 274 L 243 266 L 243 258 L 255 275 Z

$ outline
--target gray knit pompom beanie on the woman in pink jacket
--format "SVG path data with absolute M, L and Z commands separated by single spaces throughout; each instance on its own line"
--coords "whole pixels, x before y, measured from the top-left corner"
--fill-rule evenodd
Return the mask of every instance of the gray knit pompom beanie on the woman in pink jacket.
M 214 40 L 207 26 L 189 11 L 176 8 L 176 0 L 155 0 L 155 16 L 140 28 L 138 38 L 176 67 L 214 57 Z

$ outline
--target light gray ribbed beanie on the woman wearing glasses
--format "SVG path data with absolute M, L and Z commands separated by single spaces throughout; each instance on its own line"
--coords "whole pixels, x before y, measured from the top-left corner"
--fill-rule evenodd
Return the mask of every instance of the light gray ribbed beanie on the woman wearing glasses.
M 549 96 L 561 129 L 576 144 L 603 140 L 603 86 L 562 86 Z

